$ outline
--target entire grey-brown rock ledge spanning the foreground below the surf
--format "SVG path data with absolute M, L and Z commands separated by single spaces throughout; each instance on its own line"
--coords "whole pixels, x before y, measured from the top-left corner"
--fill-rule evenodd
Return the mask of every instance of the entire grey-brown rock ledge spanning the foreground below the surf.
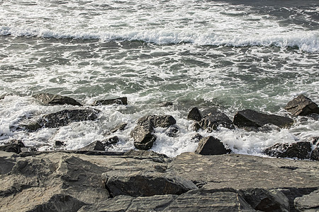
M 318 209 L 318 161 L 99 153 L 0 151 L 0 211 Z

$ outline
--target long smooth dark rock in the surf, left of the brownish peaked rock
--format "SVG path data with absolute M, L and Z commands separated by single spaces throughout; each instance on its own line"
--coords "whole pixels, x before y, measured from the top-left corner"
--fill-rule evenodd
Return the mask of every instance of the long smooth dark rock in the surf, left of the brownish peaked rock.
M 274 124 L 279 127 L 289 127 L 293 125 L 293 119 L 281 117 L 274 114 L 263 114 L 254 110 L 238 111 L 234 117 L 234 124 L 238 127 L 264 126 L 265 124 Z

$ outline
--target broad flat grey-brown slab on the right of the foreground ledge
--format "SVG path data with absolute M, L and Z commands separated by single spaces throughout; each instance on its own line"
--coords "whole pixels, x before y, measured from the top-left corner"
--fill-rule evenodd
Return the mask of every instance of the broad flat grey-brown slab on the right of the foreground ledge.
M 166 172 L 203 182 L 206 189 L 274 189 L 319 187 L 318 170 L 318 161 L 182 153 L 169 163 Z

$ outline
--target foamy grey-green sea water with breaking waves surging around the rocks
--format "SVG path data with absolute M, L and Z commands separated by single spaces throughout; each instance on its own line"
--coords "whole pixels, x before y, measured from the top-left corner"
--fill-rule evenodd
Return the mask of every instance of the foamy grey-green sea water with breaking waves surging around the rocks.
M 147 114 L 171 114 L 179 136 L 157 128 L 153 151 L 171 157 L 195 151 L 191 107 L 218 107 L 233 119 L 252 109 L 289 116 L 299 94 L 319 103 L 319 2 L 203 0 L 0 0 L 0 144 L 12 139 L 40 151 L 63 141 L 78 149 L 103 140 L 118 124 L 108 151 L 134 148 L 130 131 Z M 84 107 L 126 96 L 128 105 L 101 105 L 99 119 L 58 129 L 11 131 L 25 117 L 67 108 L 33 99 L 67 95 Z M 174 105 L 161 107 L 162 102 Z M 318 117 L 294 117 L 290 129 L 198 131 L 235 153 L 262 155 L 274 143 L 319 136 Z

